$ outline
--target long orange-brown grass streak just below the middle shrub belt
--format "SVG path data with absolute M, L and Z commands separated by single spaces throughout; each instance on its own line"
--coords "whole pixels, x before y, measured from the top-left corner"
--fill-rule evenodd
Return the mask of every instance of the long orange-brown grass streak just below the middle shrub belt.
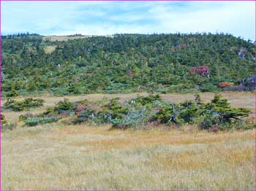
M 76 147 L 86 145 L 93 146 L 91 147 L 91 151 L 128 149 L 153 145 L 211 144 L 236 139 L 254 139 L 254 134 L 247 131 L 240 133 L 184 133 L 182 130 L 110 130 L 109 126 L 107 128 L 72 126 L 72 128 L 61 129 L 69 134 L 100 134 L 113 136 L 113 138 L 104 140 L 74 140 L 69 143 L 69 145 Z

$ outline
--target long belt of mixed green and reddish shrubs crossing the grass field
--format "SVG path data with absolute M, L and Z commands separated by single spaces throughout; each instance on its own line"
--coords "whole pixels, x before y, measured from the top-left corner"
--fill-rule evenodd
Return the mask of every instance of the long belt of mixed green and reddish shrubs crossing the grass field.
M 181 104 L 163 101 L 159 95 L 148 95 L 132 98 L 123 104 L 119 98 L 110 101 L 103 99 L 97 103 L 87 100 L 72 103 L 64 99 L 42 114 L 29 117 L 22 115 L 20 119 L 29 126 L 55 122 L 61 117 L 72 117 L 68 121 L 74 124 L 111 124 L 113 128 L 120 129 L 147 128 L 148 125 L 161 124 L 178 128 L 190 124 L 217 131 L 254 128 L 253 123 L 243 119 L 248 116 L 249 109 L 233 108 L 220 95 L 215 95 L 207 104 L 200 100 L 199 95 L 195 96 L 194 101 L 185 101 Z

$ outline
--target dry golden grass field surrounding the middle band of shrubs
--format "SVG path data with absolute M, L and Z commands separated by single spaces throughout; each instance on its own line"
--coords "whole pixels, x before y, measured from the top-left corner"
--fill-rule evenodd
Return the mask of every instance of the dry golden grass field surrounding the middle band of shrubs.
M 71 101 L 103 96 L 67 96 Z M 204 101 L 214 94 L 203 93 Z M 254 109 L 253 93 L 223 93 L 233 106 Z M 184 101 L 191 94 L 165 94 Z M 43 95 L 50 106 L 60 97 Z M 30 112 L 42 112 L 33 109 Z M 24 112 L 6 112 L 18 121 Z M 181 129 L 112 130 L 110 126 L 63 125 L 18 127 L 2 133 L 2 189 L 104 190 L 253 190 L 255 130 L 208 133 Z

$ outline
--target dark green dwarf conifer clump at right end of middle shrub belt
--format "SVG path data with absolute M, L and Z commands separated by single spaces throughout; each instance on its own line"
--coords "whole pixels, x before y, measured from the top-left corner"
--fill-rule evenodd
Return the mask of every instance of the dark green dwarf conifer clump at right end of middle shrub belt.
M 242 122 L 242 118 L 247 117 L 248 114 L 249 109 L 233 108 L 220 95 L 215 95 L 214 99 L 208 104 L 203 104 L 200 101 L 200 96 L 196 95 L 195 101 L 167 104 L 160 107 L 151 121 L 173 122 L 177 125 L 192 123 L 204 129 L 219 125 L 220 129 L 227 129 L 236 126 L 236 122 Z

